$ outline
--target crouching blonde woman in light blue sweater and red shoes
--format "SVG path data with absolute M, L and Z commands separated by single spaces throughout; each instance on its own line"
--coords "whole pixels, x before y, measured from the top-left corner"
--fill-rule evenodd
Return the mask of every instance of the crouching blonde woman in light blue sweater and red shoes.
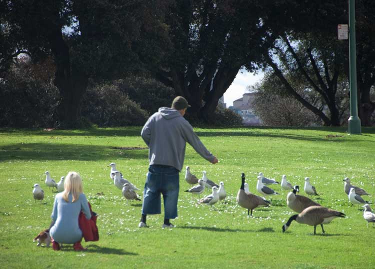
M 87 199 L 82 193 L 82 180 L 76 172 L 69 172 L 64 180 L 64 191 L 56 194 L 53 203 L 49 227 L 53 250 L 60 250 L 59 244 L 74 244 L 75 251 L 85 250 L 80 244 L 82 231 L 78 226 L 81 210 L 86 219 L 91 218 Z

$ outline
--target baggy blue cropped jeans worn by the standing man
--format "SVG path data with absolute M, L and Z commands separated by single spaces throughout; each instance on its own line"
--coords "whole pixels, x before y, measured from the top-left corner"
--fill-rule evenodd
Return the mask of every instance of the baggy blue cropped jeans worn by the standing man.
M 171 166 L 150 165 L 143 191 L 142 214 L 160 214 L 161 198 L 164 201 L 164 218 L 177 217 L 179 172 Z

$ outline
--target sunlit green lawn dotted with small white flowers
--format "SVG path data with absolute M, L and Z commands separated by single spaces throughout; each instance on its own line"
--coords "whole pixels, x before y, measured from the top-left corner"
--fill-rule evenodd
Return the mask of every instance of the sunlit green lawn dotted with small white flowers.
M 172 222 L 177 227 L 163 230 L 162 215 L 147 218 L 150 228 L 137 228 L 141 204 L 126 205 L 106 167 L 115 162 L 125 178 L 143 187 L 148 155 L 140 127 L 0 129 L 1 268 L 373 268 L 375 229 L 367 229 L 362 211 L 348 204 L 342 179 L 347 176 L 375 194 L 375 128 L 363 128 L 362 135 L 347 135 L 344 128 L 195 131 L 220 162 L 209 164 L 188 145 L 184 166 L 199 177 L 206 170 L 209 179 L 223 181 L 228 197 L 217 211 L 197 206 L 196 198 L 183 192 L 188 186 L 182 172 L 179 217 Z M 100 234 L 98 242 L 82 244 L 86 252 L 73 252 L 71 246 L 54 252 L 32 243 L 50 223 L 55 193 L 44 184 L 47 170 L 55 180 L 68 171 L 83 179 L 84 193 L 99 214 Z M 284 191 L 272 198 L 272 207 L 255 209 L 254 217 L 247 218 L 235 201 L 242 171 L 254 193 L 260 171 L 278 180 L 285 174 L 302 195 L 308 176 L 322 193 L 317 202 L 347 218 L 325 225 L 323 236 L 320 227 L 313 236 L 313 227 L 295 222 L 283 234 L 282 224 L 294 214 L 286 207 Z M 32 199 L 35 183 L 46 194 L 43 204 Z

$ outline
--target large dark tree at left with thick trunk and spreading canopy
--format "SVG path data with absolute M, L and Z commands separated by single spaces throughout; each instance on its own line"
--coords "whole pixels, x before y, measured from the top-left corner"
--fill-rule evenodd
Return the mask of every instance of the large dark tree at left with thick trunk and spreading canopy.
M 59 120 L 74 126 L 89 79 L 105 80 L 157 62 L 168 47 L 163 10 L 168 1 L 1 0 L 1 55 L 37 61 L 51 54 L 60 93 Z

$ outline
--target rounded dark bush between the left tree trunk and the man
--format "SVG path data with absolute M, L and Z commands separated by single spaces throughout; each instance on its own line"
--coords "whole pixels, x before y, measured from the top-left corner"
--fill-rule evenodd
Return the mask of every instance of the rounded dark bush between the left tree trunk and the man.
M 114 84 L 101 84 L 87 89 L 81 114 L 98 126 L 143 125 L 147 112 Z

